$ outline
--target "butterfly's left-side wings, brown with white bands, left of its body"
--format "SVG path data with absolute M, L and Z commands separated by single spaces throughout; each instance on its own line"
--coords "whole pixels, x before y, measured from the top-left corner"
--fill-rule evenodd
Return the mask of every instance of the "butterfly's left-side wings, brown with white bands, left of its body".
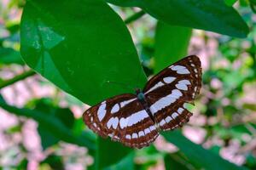
M 103 138 L 108 136 L 130 147 L 142 148 L 159 135 L 134 94 L 121 94 L 90 107 L 85 124 Z

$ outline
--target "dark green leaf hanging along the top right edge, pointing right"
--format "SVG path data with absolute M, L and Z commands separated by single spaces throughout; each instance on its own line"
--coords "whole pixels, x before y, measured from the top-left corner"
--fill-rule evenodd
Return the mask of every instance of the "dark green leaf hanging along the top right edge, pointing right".
M 143 8 L 157 20 L 173 26 L 214 31 L 231 37 L 247 37 L 241 16 L 223 0 L 107 0 L 124 7 Z

